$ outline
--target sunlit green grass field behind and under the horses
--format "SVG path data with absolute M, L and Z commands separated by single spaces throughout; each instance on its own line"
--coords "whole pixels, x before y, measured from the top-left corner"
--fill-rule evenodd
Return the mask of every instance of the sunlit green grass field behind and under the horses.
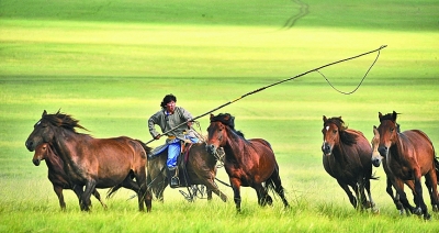
M 323 115 L 342 115 L 370 140 L 378 112 L 395 110 L 403 130 L 420 129 L 438 147 L 438 19 L 432 0 L 2 0 L 0 232 L 437 232 L 438 213 L 428 222 L 398 214 L 381 167 L 372 182 L 380 214 L 351 208 L 323 168 L 320 131 Z M 146 142 L 146 121 L 167 93 L 196 116 L 381 45 L 387 47 L 353 95 L 311 73 L 214 112 L 234 114 L 246 137 L 272 144 L 288 211 L 279 199 L 258 207 L 255 191 L 243 188 L 243 213 L 236 214 L 232 189 L 219 185 L 227 203 L 217 197 L 188 203 L 167 189 L 151 213 L 139 213 L 128 190 L 105 200 L 106 210 L 92 198 L 92 212 L 83 213 L 66 190 L 61 212 L 45 164 L 35 167 L 24 146 L 43 110 L 72 114 L 95 137 Z M 320 71 L 351 91 L 375 56 Z M 199 121 L 205 134 L 209 118 Z M 224 169 L 218 177 L 227 180 Z

